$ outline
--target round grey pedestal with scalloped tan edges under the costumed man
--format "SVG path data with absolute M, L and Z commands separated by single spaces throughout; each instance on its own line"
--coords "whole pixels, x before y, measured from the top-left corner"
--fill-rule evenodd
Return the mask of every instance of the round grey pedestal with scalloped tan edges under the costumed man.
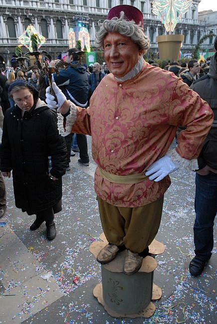
M 97 257 L 99 251 L 108 242 L 104 234 L 103 241 L 95 241 L 90 246 L 90 252 Z M 155 312 L 152 300 L 160 299 L 161 288 L 153 283 L 154 270 L 158 263 L 154 256 L 164 252 L 164 245 L 156 240 L 149 247 L 151 256 L 143 259 L 142 267 L 134 275 L 123 273 L 124 260 L 127 251 L 118 253 L 108 264 L 101 265 L 102 284 L 94 288 L 93 295 L 112 317 L 149 318 Z

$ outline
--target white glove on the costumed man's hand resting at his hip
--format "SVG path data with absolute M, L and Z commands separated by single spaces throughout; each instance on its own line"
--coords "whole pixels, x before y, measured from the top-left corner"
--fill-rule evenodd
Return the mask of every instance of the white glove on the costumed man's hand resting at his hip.
M 158 161 L 152 163 L 147 168 L 145 175 L 150 175 L 149 180 L 160 181 L 168 174 L 179 169 L 179 166 L 175 165 L 169 156 L 165 155 L 163 158 Z

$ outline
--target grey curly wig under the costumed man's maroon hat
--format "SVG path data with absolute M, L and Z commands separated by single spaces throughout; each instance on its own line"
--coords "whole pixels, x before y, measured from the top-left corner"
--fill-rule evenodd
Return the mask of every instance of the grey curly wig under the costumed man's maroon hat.
M 143 49 L 143 55 L 149 49 L 149 39 L 144 34 L 141 24 L 135 24 L 135 22 L 127 21 L 124 19 L 124 11 L 121 11 L 120 18 L 114 17 L 111 20 L 104 20 L 102 23 L 98 22 L 100 29 L 96 34 L 95 44 L 96 47 L 104 50 L 103 40 L 108 32 L 119 32 L 121 35 L 130 37 L 132 41 L 138 44 L 139 49 Z

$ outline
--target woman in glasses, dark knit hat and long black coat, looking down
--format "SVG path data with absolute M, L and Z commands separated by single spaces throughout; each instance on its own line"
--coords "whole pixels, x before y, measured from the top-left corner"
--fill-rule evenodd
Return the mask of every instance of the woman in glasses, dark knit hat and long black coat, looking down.
M 13 176 L 15 205 L 28 215 L 36 214 L 30 230 L 46 222 L 47 239 L 56 237 L 54 214 L 62 210 L 62 175 L 66 146 L 57 129 L 56 113 L 38 98 L 38 91 L 24 80 L 8 89 L 14 106 L 3 120 L 0 169 Z M 48 171 L 48 157 L 52 169 Z

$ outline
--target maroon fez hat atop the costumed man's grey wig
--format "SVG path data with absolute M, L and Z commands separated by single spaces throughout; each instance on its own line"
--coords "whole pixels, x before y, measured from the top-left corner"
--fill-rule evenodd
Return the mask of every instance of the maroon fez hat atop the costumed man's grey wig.
M 120 18 L 121 11 L 124 11 L 124 19 L 131 21 L 134 20 L 136 24 L 141 22 L 141 27 L 144 26 L 143 13 L 136 7 L 128 4 L 120 4 L 109 10 L 107 19 L 111 20 L 114 17 Z

